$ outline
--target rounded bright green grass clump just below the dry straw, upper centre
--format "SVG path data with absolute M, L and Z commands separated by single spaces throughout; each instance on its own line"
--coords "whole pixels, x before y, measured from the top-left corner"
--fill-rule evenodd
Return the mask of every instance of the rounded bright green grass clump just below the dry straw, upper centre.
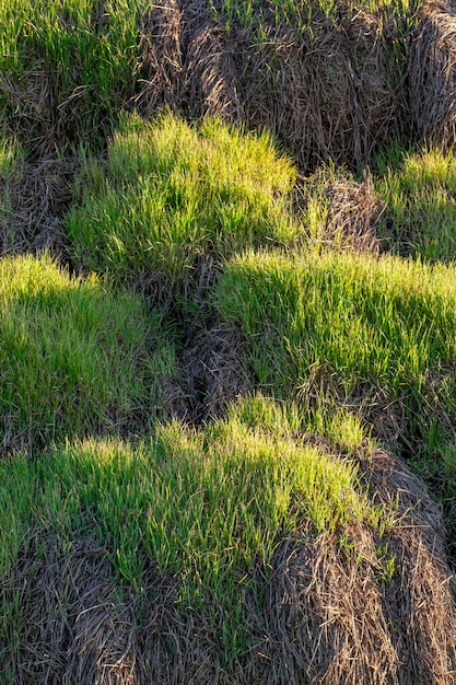
M 270 137 L 218 121 L 125 117 L 106 166 L 90 160 L 68 218 L 75 260 L 117 280 L 190 278 L 196 260 L 295 237 L 292 163 Z

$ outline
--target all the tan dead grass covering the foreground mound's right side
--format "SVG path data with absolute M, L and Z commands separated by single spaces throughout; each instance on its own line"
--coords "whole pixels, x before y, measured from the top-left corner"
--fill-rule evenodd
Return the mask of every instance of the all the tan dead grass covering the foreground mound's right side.
M 285 663 L 293 684 L 449 685 L 455 588 L 441 514 L 396 457 L 374 451 L 360 466 L 374 500 L 398 502 L 396 523 L 382 541 L 356 524 L 344 548 L 305 535 L 279 545 L 266 595 L 271 669 Z

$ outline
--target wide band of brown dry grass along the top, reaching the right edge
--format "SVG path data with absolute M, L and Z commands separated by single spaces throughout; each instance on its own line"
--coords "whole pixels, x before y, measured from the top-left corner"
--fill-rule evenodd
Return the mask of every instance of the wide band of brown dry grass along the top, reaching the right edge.
M 265 126 L 302 170 L 359 167 L 391 141 L 454 144 L 456 20 L 444 0 L 400 20 L 341 3 L 304 31 L 262 19 L 259 37 L 255 25 L 226 32 L 200 0 L 160 3 L 141 25 L 140 112 Z

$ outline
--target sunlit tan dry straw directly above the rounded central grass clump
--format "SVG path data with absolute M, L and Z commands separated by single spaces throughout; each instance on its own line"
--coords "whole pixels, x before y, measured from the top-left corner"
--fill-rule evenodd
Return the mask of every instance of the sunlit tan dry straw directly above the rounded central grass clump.
M 148 78 L 135 102 L 142 113 L 151 116 L 166 105 L 243 120 L 234 56 L 208 7 L 166 0 L 145 14 L 140 35 Z

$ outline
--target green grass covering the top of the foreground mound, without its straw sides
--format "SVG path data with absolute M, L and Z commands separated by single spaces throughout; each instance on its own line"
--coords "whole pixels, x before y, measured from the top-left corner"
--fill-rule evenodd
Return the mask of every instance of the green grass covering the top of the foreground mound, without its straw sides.
M 17 554 L 16 531 L 26 538 L 32 522 L 55 529 L 63 544 L 95 527 L 124 580 L 141 588 L 157 565 L 177 581 L 182 611 L 209 618 L 211 639 L 223 641 L 227 661 L 235 658 L 246 648 L 248 622 L 239 612 L 245 593 L 255 592 L 255 567 L 267 568 L 283 536 L 343 536 L 353 521 L 377 527 L 382 520 L 349 461 L 291 439 L 283 411 L 262 403 L 281 420 L 280 434 L 248 427 L 241 408 L 199 431 L 172 422 L 137 446 L 68 443 L 45 454 L 36 471 L 13 460 L 7 484 L 25 483 L 22 492 L 9 487 L 3 569 Z

